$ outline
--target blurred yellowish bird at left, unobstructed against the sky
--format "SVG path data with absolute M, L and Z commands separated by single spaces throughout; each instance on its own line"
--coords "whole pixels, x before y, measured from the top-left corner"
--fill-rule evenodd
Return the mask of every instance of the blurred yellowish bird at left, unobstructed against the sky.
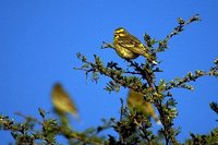
M 75 118 L 78 118 L 77 109 L 73 100 L 61 84 L 57 83 L 53 85 L 51 98 L 53 107 L 59 113 L 72 113 Z

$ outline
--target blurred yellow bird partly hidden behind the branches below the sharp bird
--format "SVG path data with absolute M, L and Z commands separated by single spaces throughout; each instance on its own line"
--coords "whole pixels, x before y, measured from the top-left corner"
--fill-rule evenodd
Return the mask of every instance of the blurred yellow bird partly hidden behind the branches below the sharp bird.
M 142 111 L 148 118 L 154 118 L 155 121 L 160 124 L 160 120 L 155 113 L 153 105 L 144 100 L 143 94 L 130 89 L 128 94 L 128 107 L 135 107 L 138 111 Z

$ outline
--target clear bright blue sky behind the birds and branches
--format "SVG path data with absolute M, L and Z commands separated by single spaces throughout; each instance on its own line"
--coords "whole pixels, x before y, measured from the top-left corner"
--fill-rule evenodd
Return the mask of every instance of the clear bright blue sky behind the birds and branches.
M 143 39 L 147 33 L 164 38 L 175 25 L 177 17 L 189 19 L 198 13 L 202 22 L 169 41 L 169 50 L 158 56 L 167 81 L 182 77 L 189 71 L 208 70 L 218 57 L 218 2 L 168 0 L 1 0 L 0 1 L 0 113 L 14 117 L 15 111 L 39 118 L 37 108 L 51 112 L 52 84 L 60 82 L 75 100 L 81 123 L 72 122 L 76 130 L 100 124 L 101 118 L 119 117 L 119 98 L 126 89 L 108 94 L 104 87 L 108 78 L 86 84 L 75 53 L 93 59 L 101 56 L 105 62 L 123 63 L 111 49 L 100 49 L 101 41 L 112 41 L 113 29 L 123 26 Z M 140 60 L 136 60 L 140 61 Z M 194 133 L 208 133 L 217 126 L 216 114 L 208 104 L 217 100 L 218 80 L 199 78 L 193 83 L 195 92 L 174 89 L 181 126 L 180 141 Z M 51 112 L 52 114 L 52 112 Z M 9 143 L 10 133 L 0 131 L 1 144 Z

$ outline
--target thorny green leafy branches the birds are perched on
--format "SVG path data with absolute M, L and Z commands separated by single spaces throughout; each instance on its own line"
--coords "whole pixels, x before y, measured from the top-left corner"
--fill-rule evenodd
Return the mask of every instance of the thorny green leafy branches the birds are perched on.
M 178 19 L 178 26 L 167 35 L 162 40 L 157 40 L 144 35 L 145 46 L 149 48 L 153 56 L 158 56 L 168 49 L 168 41 L 175 35 L 184 31 L 184 27 L 193 22 L 199 21 L 198 15 L 194 15 L 187 21 Z M 109 44 L 104 43 L 102 47 L 109 47 Z M 195 82 L 203 76 L 218 76 L 218 59 L 214 61 L 214 65 L 207 70 L 196 70 L 187 72 L 181 78 L 174 78 L 170 82 L 156 80 L 157 73 L 162 73 L 158 64 L 153 64 L 148 61 L 138 63 L 133 60 L 125 60 L 126 65 L 120 67 L 117 62 L 110 61 L 105 64 L 100 57 L 94 55 L 94 61 L 89 61 L 84 55 L 77 53 L 77 58 L 82 61 L 82 67 L 75 68 L 82 70 L 86 75 L 92 75 L 92 81 L 98 82 L 99 75 L 105 75 L 111 80 L 107 83 L 105 89 L 109 93 L 119 92 L 121 87 L 131 88 L 134 92 L 144 95 L 145 101 L 155 106 L 159 113 L 161 128 L 157 134 L 153 131 L 153 122 L 143 113 L 140 113 L 136 108 L 129 109 L 123 105 L 121 99 L 120 119 L 111 118 L 109 121 L 102 120 L 102 125 L 87 129 L 84 132 L 76 132 L 65 123 L 65 116 L 59 116 L 59 119 L 49 119 L 44 110 L 39 109 L 41 121 L 26 117 L 21 113 L 25 121 L 22 123 L 15 122 L 5 116 L 0 116 L 1 130 L 9 130 L 16 144 L 58 144 L 57 135 L 64 136 L 69 144 L 108 144 L 108 145 L 129 145 L 129 144 L 182 144 L 177 140 L 180 133 L 180 128 L 174 128 L 173 120 L 178 116 L 177 100 L 171 94 L 173 88 L 185 88 L 193 90 L 194 87 L 190 82 Z M 210 108 L 218 114 L 217 102 L 211 102 Z M 36 128 L 36 124 L 39 126 Z M 118 138 L 112 135 L 100 136 L 99 132 L 112 128 L 118 133 Z M 191 138 L 185 141 L 185 144 L 217 144 L 218 129 L 215 129 L 210 134 L 198 135 L 191 133 Z

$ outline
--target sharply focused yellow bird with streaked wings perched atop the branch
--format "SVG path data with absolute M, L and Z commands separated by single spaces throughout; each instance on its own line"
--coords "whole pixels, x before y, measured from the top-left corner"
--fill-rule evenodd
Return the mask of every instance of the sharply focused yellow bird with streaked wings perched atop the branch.
M 148 62 L 157 64 L 155 57 L 149 53 L 148 47 L 145 47 L 138 38 L 123 27 L 114 29 L 113 49 L 123 59 L 132 60 L 143 56 Z

